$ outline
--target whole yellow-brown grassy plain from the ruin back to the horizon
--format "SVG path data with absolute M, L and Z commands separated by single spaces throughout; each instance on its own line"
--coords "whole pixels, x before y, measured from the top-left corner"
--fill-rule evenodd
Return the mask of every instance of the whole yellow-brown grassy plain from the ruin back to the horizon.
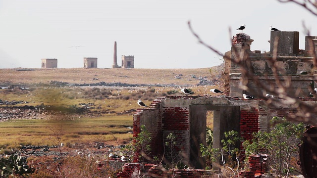
M 211 73 L 212 72 L 212 73 Z M 0 89 L 0 100 L 24 101 L 14 106 L 29 105 L 42 108 L 39 115 L 17 115 L 2 119 L 1 111 L 16 112 L 14 106 L 0 105 L 0 153 L 19 148 L 20 145 L 51 145 L 53 130 L 62 128 L 62 141 L 103 141 L 120 144 L 131 140 L 132 114 L 141 98 L 146 104 L 166 95 L 180 95 L 183 86 L 195 94 L 211 94 L 211 87 L 198 86 L 200 80 L 214 80 L 211 76 L 221 73 L 220 67 L 203 69 L 0 69 L 0 87 L 25 86 L 27 89 Z M 141 87 L 50 87 L 51 81 L 70 84 L 124 83 L 142 84 Z M 43 85 L 44 84 L 44 85 Z M 160 84 L 162 86 L 152 86 Z M 172 86 L 169 86 L 173 84 Z M 82 103 L 93 103 L 81 113 Z M 41 106 L 41 107 L 39 107 Z M 52 112 L 47 112 L 50 110 Z M 128 112 L 127 112 L 128 111 Z M 38 112 L 34 110 L 32 112 Z M 48 116 L 48 113 L 53 116 Z M 63 113 L 63 115 L 54 115 Z M 32 114 L 32 113 L 31 113 Z M 70 117 L 65 117 L 68 115 Z M 3 114 L 2 114 L 3 116 Z M 45 116 L 45 117 L 42 117 Z M 211 116 L 212 117 L 212 116 Z M 56 119 L 57 118 L 57 119 Z M 2 121 L 2 122 L 1 122 Z M 212 119 L 210 125 L 212 125 Z

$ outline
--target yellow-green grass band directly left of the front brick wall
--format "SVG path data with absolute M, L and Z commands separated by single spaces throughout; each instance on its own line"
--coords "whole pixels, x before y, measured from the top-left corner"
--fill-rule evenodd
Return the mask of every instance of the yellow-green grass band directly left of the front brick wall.
M 62 142 L 73 144 L 92 140 L 129 141 L 132 116 L 110 115 L 98 118 L 80 118 L 69 121 L 54 120 L 13 120 L 0 122 L 0 148 L 18 148 L 20 144 L 52 145 L 55 133 Z

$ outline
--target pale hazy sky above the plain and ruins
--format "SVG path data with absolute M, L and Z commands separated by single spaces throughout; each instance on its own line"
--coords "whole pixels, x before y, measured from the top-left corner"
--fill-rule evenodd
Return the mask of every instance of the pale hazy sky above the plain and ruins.
M 251 50 L 262 52 L 269 51 L 270 25 L 300 32 L 301 49 L 303 22 L 317 36 L 316 16 L 277 0 L 0 0 L 0 68 L 41 68 L 43 58 L 81 68 L 84 57 L 111 68 L 115 41 L 119 66 L 121 55 L 133 55 L 135 68 L 220 65 L 221 56 L 198 43 L 188 21 L 222 53 L 242 24 L 254 40 Z

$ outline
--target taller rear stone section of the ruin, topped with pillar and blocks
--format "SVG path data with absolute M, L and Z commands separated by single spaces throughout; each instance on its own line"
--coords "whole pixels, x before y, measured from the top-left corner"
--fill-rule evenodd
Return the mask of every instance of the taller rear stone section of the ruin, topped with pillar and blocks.
M 276 40 L 278 40 L 278 45 L 275 57 L 273 56 L 273 47 Z M 283 83 L 285 76 L 292 80 L 292 86 L 288 88 L 288 93 L 296 93 L 296 96 L 308 97 L 309 92 L 316 88 L 317 83 L 314 80 L 316 70 L 313 69 L 314 57 L 312 57 L 311 53 L 314 52 L 313 48 L 316 48 L 317 43 L 311 43 L 311 46 L 306 47 L 309 47 L 310 51 L 301 50 L 299 53 L 299 33 L 284 31 L 271 32 L 270 52 L 259 53 L 256 50 L 251 51 L 252 42 L 253 40 L 247 34 L 236 34 L 232 38 L 230 53 L 226 53 L 226 57 L 229 56 L 230 59 L 225 60 L 225 71 L 230 71 L 226 74 L 230 78 L 231 97 L 241 97 L 243 93 L 265 95 L 266 93 L 262 93 L 263 89 L 254 84 L 252 80 L 248 81 L 248 91 L 240 88 L 243 73 L 241 65 L 244 65 L 247 70 L 252 72 L 260 83 L 269 86 L 275 85 L 276 80 L 272 72 L 271 61 L 273 60 L 275 61 L 274 65 L 279 68 L 277 71 L 279 80 Z M 244 56 L 241 57 L 241 54 L 244 54 Z M 241 65 L 237 65 L 233 61 L 240 61 Z

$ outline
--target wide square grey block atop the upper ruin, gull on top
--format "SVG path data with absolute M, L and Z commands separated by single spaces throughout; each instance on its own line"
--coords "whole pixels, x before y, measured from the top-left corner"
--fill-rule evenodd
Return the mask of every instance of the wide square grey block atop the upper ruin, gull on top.
M 299 32 L 271 31 L 270 53 L 273 53 L 275 40 L 278 54 L 298 54 Z

